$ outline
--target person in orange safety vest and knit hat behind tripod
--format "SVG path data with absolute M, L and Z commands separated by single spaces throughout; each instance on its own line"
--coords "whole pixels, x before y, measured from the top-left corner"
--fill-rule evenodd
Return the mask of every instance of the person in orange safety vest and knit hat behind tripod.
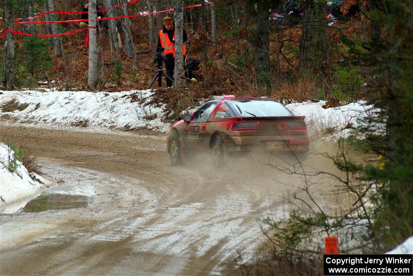
M 166 73 L 173 78 L 173 70 L 175 69 L 175 24 L 172 18 L 163 18 L 163 28 L 159 31 L 158 46 L 156 48 L 156 54 L 163 51 L 165 55 L 165 68 Z M 188 40 L 187 32 L 184 31 L 184 48 L 183 53 L 186 54 L 185 42 Z M 172 86 L 172 81 L 168 78 L 166 79 L 166 85 L 168 87 Z

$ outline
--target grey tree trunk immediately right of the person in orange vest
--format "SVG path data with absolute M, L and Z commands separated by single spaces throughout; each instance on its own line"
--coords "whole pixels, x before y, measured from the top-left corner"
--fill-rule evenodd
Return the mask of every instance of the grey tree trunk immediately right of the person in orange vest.
M 175 0 L 175 72 L 173 86 L 179 89 L 182 86 L 184 73 L 184 12 L 183 1 Z

